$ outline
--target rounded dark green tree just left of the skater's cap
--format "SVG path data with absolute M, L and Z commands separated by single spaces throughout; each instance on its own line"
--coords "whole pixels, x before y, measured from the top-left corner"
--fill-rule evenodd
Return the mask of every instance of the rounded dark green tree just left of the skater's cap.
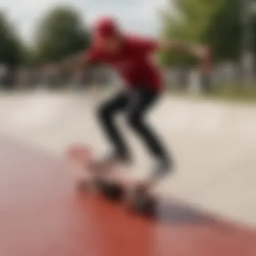
M 85 49 L 89 44 L 88 29 L 72 7 L 55 7 L 46 13 L 36 28 L 37 61 L 59 61 L 67 55 Z

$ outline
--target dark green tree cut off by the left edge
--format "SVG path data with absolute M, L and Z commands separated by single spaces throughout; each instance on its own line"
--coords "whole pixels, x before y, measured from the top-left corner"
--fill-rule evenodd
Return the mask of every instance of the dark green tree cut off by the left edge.
M 24 45 L 5 13 L 0 12 L 0 62 L 15 67 L 24 61 Z

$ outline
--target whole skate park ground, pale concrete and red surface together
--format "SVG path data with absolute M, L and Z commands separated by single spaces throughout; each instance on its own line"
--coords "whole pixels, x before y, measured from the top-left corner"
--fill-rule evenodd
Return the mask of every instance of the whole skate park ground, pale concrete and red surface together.
M 255 255 L 256 105 L 166 96 L 154 108 L 150 123 L 177 161 L 177 170 L 158 185 L 158 193 L 236 222 L 243 231 L 223 227 L 209 231 L 195 223 L 166 228 L 128 218 L 120 207 L 73 191 L 63 151 L 77 141 L 92 146 L 96 154 L 107 150 L 94 114 L 109 94 L 0 95 L 0 254 Z M 143 177 L 152 159 L 125 127 L 125 119 L 118 122 L 135 156 L 131 175 Z M 121 238 L 117 236 L 122 232 Z M 124 242 L 128 238 L 130 242 Z

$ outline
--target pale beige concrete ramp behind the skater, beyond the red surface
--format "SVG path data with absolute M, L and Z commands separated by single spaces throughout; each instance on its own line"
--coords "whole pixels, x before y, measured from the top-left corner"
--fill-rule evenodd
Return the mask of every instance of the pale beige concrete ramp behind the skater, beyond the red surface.
M 61 156 L 70 143 L 107 148 L 94 120 L 107 92 L 13 94 L 0 96 L 0 132 Z M 200 209 L 256 225 L 256 106 L 166 98 L 149 120 L 177 159 L 177 172 L 158 190 Z M 120 125 L 135 156 L 134 174 L 144 175 L 150 159 L 131 131 Z

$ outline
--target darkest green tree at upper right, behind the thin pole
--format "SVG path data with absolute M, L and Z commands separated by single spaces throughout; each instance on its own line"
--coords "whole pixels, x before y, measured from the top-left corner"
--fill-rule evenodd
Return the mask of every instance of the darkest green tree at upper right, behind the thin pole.
M 202 34 L 203 40 L 212 46 L 216 59 L 238 60 L 243 49 L 245 30 L 249 29 L 249 44 L 256 51 L 256 16 L 252 3 L 255 0 L 225 0 L 210 18 L 210 24 Z M 247 28 L 243 18 L 249 18 Z

